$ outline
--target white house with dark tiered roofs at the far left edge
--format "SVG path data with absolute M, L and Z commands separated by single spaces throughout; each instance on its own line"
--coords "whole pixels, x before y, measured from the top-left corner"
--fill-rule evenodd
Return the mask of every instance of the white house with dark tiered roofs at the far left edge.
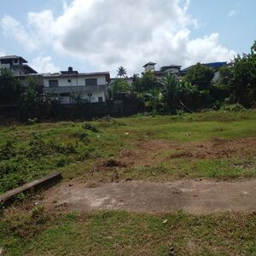
M 32 67 L 26 65 L 27 61 L 20 56 L 6 55 L 0 57 L 0 70 L 2 68 L 9 69 L 17 77 L 26 76 L 28 74 L 37 73 Z

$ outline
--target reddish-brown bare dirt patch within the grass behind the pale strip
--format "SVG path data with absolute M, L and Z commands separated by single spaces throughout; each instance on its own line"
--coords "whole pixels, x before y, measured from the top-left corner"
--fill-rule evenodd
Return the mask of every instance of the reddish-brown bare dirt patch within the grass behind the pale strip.
M 99 162 L 94 171 L 104 171 L 111 167 L 150 166 L 160 161 L 178 158 L 191 159 L 218 159 L 218 158 L 244 158 L 251 157 L 256 152 L 256 137 L 236 138 L 224 140 L 218 137 L 204 143 L 176 143 L 165 140 L 150 140 L 136 142 L 136 149 L 122 150 L 117 162 Z M 170 151 L 166 155 L 166 152 Z M 173 151 L 173 152 L 172 152 Z

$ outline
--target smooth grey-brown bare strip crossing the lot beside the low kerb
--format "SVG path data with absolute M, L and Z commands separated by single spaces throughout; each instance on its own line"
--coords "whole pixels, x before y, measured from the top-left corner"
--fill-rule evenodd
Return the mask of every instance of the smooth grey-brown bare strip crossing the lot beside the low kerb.
M 45 207 L 61 211 L 125 209 L 135 212 L 254 212 L 256 178 L 239 181 L 122 182 L 88 188 L 61 183 L 44 193 Z

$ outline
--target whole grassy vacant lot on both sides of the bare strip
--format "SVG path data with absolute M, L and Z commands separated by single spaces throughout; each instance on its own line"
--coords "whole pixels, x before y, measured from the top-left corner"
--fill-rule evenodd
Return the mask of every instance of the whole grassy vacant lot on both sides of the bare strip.
M 63 191 L 131 181 L 159 186 L 192 179 L 228 183 L 242 177 L 255 183 L 256 111 L 0 128 L 0 194 L 55 170 L 63 174 Z M 178 193 L 173 192 L 176 200 L 182 196 Z M 198 195 L 189 196 L 196 203 Z M 11 255 L 168 255 L 172 247 L 177 255 L 256 253 L 253 207 L 200 216 L 140 206 L 141 213 L 70 213 L 73 209 L 65 205 L 48 207 L 55 200 L 44 193 L 5 210 L 0 247 Z M 48 204 L 41 207 L 40 201 Z

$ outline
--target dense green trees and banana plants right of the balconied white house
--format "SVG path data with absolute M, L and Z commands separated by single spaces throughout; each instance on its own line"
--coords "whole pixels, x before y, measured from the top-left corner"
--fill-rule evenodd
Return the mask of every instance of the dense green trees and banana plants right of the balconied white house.
M 169 73 L 159 78 L 148 71 L 133 76 L 129 88 L 125 79 L 115 80 L 114 92 L 137 95 L 146 109 L 154 113 L 192 112 L 203 108 L 252 108 L 256 102 L 256 42 L 249 54 L 237 55 L 226 67 L 219 69 L 218 81 L 212 82 L 214 70 L 197 63 L 182 78 Z

